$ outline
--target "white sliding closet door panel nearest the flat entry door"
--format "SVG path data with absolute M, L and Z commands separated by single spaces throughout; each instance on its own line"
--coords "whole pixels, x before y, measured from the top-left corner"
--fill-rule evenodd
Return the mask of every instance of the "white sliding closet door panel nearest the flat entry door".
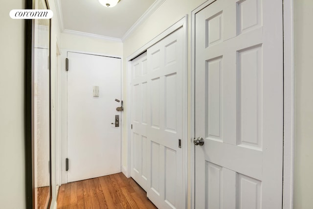
M 147 53 L 132 61 L 132 178 L 147 191 L 149 184 Z

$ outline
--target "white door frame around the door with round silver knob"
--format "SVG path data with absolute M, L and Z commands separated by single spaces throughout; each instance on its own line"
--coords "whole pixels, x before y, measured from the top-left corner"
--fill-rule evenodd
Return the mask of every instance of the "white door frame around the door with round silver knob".
M 195 20 L 196 13 L 215 0 L 207 0 L 191 12 L 191 209 L 195 208 Z M 293 39 L 293 0 L 283 3 L 284 40 L 284 156 L 283 156 L 283 209 L 293 205 L 293 158 L 294 158 L 294 39 Z

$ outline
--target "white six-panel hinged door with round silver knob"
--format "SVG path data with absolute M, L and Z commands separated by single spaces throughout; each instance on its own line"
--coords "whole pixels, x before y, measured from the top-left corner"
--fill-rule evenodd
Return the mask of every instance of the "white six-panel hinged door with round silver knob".
M 216 0 L 195 16 L 195 208 L 281 209 L 282 1 Z

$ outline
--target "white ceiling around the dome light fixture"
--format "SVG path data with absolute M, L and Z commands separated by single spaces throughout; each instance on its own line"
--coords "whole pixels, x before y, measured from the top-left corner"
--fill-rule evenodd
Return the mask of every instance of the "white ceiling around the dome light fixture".
M 58 1 L 65 31 L 122 39 L 159 0 L 121 0 L 111 8 L 101 5 L 98 0 Z

